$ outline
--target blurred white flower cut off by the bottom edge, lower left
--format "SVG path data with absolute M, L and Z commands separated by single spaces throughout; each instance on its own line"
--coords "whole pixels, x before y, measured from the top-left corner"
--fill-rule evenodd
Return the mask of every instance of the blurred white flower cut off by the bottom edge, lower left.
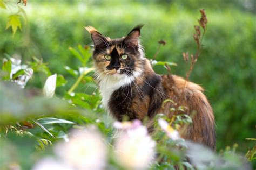
M 44 158 L 39 160 L 32 170 L 72 170 L 73 168 L 63 161 L 58 161 L 53 158 Z

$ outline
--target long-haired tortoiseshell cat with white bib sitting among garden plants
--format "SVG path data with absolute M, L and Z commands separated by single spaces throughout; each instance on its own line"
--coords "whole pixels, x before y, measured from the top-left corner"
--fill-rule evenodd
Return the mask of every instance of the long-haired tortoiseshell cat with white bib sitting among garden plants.
M 104 107 L 122 121 L 152 119 L 158 113 L 172 116 L 170 98 L 187 108 L 193 124 L 186 127 L 181 137 L 215 149 L 215 121 L 212 108 L 203 94 L 203 88 L 176 75 L 157 75 L 145 58 L 139 42 L 142 25 L 119 39 L 104 37 L 95 28 L 85 27 L 94 43 L 93 61 Z M 150 126 L 150 125 L 149 125 Z

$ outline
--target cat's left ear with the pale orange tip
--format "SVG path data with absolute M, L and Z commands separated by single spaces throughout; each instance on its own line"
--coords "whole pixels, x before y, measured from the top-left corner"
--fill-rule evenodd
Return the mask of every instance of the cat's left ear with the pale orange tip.
M 98 47 L 108 47 L 109 41 L 99 33 L 94 27 L 86 26 L 84 27 L 90 34 L 95 48 Z

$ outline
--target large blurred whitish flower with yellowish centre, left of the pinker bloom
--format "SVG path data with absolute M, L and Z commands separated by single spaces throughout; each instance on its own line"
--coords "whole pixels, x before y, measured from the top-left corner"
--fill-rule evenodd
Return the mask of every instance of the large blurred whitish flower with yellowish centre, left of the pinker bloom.
M 55 153 L 75 169 L 104 169 L 107 149 L 97 130 L 83 129 L 71 132 L 69 142 L 56 146 Z

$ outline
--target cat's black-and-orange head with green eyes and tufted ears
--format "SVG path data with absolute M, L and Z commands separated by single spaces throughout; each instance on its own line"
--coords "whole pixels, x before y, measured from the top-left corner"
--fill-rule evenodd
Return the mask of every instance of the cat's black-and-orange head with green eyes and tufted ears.
M 94 44 L 93 62 L 99 79 L 104 77 L 134 79 L 142 73 L 145 60 L 139 42 L 142 26 L 134 27 L 126 37 L 118 39 L 105 37 L 92 26 L 85 27 L 90 32 Z

